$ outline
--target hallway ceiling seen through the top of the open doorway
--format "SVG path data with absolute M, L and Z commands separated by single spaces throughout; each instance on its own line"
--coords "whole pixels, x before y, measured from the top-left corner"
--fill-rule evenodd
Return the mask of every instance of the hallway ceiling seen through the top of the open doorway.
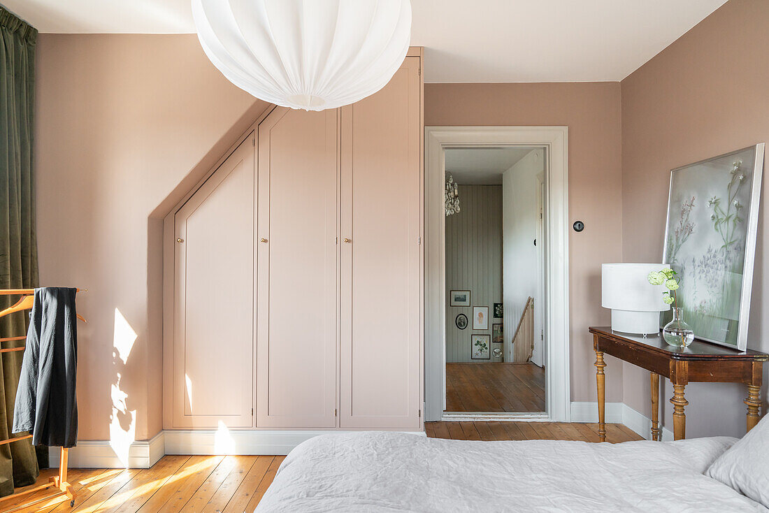
M 446 171 L 459 185 L 501 185 L 502 173 L 534 148 L 447 149 Z

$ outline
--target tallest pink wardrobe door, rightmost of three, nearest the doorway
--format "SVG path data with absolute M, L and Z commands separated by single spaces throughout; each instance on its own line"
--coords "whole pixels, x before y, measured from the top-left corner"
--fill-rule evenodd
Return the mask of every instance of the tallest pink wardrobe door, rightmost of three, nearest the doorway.
M 342 428 L 420 427 L 419 65 L 342 108 Z

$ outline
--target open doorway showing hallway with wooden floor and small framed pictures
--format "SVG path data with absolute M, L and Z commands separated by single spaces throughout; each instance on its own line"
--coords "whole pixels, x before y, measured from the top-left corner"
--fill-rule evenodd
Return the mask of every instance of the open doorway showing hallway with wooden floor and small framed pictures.
M 445 413 L 545 411 L 545 156 L 445 150 Z

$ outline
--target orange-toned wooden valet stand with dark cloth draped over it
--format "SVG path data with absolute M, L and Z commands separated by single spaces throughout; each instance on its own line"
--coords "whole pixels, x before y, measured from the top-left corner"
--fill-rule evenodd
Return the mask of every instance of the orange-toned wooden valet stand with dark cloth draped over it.
M 85 290 L 87 289 L 78 288 L 78 292 L 85 291 Z M 5 315 L 12 314 L 16 311 L 29 310 L 30 308 L 32 308 L 32 305 L 34 305 L 35 303 L 34 288 L 12 288 L 7 290 L 0 290 L 0 295 L 21 295 L 22 296 L 22 298 L 16 301 L 15 305 L 9 308 L 5 308 L 5 310 L 3 311 L 0 311 L 0 318 L 5 317 Z M 78 319 L 85 322 L 85 319 L 82 318 L 82 316 L 80 315 L 78 315 Z M 26 338 L 27 338 L 26 335 L 23 337 L 0 338 L 0 342 L 26 340 Z M 15 347 L 15 348 L 0 348 L 0 353 L 24 351 L 25 347 L 26 347 L 25 345 L 22 345 L 20 347 Z M 8 440 L 0 440 L 0 445 L 11 444 L 15 441 L 26 440 L 27 438 L 32 438 L 32 435 L 21 435 L 15 438 L 8 438 Z M 35 505 L 38 502 L 48 501 L 62 494 L 66 495 L 67 498 L 69 498 L 69 505 L 74 506 L 75 497 L 77 497 L 77 493 L 75 492 L 75 488 L 72 488 L 72 485 L 67 481 L 67 465 L 68 465 L 68 458 L 69 458 L 69 449 L 62 447 L 61 450 L 62 450 L 61 456 L 58 461 L 58 475 L 55 475 L 52 478 L 49 478 L 48 483 L 45 485 L 35 486 L 34 488 L 29 488 L 28 490 L 19 491 L 18 493 L 15 493 L 12 495 L 6 495 L 5 497 L 0 498 L 0 511 L 2 511 L 3 513 L 18 511 L 24 508 L 28 508 L 29 506 Z M 45 488 L 51 488 L 51 487 L 55 487 L 58 489 L 58 491 L 53 495 L 46 495 L 45 497 L 39 498 L 36 501 L 26 502 L 25 504 L 22 504 L 22 505 L 16 505 L 11 509 L 3 509 L 2 504 L 4 501 L 9 501 L 14 498 L 19 498 L 22 495 L 29 495 L 34 493 L 35 491 L 40 491 Z

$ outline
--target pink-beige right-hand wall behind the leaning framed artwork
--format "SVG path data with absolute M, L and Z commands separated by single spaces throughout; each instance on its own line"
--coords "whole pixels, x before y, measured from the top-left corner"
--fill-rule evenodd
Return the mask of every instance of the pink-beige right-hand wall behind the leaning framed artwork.
M 661 258 L 671 168 L 769 142 L 767 21 L 766 0 L 730 0 L 621 82 L 625 261 Z M 765 171 L 764 198 L 766 178 Z M 769 213 L 765 202 L 761 210 L 748 347 L 766 352 Z M 611 370 L 610 365 L 607 372 Z M 690 402 L 687 436 L 744 434 L 744 386 L 689 385 L 686 393 Z M 648 394 L 648 373 L 626 365 L 625 403 L 648 415 Z M 663 402 L 667 425 L 672 425 L 667 402 L 671 396 L 668 383 Z

